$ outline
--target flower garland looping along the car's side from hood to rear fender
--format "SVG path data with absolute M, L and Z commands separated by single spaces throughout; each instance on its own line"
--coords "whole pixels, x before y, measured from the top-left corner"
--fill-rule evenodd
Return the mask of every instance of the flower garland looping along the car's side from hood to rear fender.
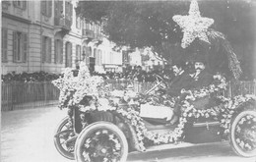
M 221 119 L 222 127 L 224 128 L 224 133 L 227 134 L 229 131 L 229 125 L 231 121 L 232 114 L 234 113 L 235 108 L 237 108 L 240 104 L 250 100 L 250 99 L 256 99 L 255 96 L 236 96 L 234 99 L 225 98 L 223 96 L 220 96 L 220 99 L 222 99 L 223 104 L 220 104 L 218 106 L 214 106 L 210 109 L 206 110 L 199 110 L 196 109 L 191 103 L 191 98 L 201 98 L 205 95 L 208 95 L 211 92 L 219 91 L 220 89 L 223 89 L 226 87 L 226 82 L 224 78 L 221 75 L 214 76 L 214 79 L 216 82 L 219 82 L 219 84 L 211 84 L 208 87 L 202 88 L 200 90 L 194 90 L 190 94 L 193 95 L 193 97 L 188 97 L 183 102 L 183 114 L 181 115 L 179 119 L 178 126 L 174 129 L 174 131 L 169 132 L 167 134 L 157 134 L 148 132 L 147 128 L 145 127 L 143 120 L 139 116 L 139 113 L 137 111 L 133 111 L 132 109 L 128 109 L 129 111 L 124 111 L 122 109 L 119 109 L 118 112 L 121 113 L 124 117 L 129 119 L 131 121 L 131 124 L 135 127 L 137 132 L 137 138 L 139 139 L 139 146 L 141 150 L 145 150 L 144 147 L 144 138 L 148 138 L 152 140 L 155 144 L 160 143 L 170 143 L 170 142 L 177 142 L 178 139 L 183 135 L 183 129 L 185 124 L 191 120 L 191 119 L 198 119 L 198 118 L 218 118 Z

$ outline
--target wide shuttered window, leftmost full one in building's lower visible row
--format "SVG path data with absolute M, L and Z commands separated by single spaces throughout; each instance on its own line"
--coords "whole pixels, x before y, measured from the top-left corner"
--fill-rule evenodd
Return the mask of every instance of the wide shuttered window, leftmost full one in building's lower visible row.
M 28 34 L 20 31 L 13 32 L 14 62 L 26 62 L 28 54 Z

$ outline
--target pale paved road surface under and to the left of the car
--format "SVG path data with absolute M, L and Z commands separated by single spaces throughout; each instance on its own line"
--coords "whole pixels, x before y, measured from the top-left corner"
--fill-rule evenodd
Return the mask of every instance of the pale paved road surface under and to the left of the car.
M 2 162 L 71 162 L 62 157 L 53 144 L 53 132 L 66 110 L 56 107 L 2 113 Z M 256 162 L 255 158 L 236 156 L 228 143 L 180 144 L 156 147 L 144 153 L 131 153 L 129 162 Z

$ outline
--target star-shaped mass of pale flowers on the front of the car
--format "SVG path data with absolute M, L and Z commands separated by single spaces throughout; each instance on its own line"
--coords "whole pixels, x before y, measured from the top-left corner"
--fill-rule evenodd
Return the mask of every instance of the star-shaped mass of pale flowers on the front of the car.
M 74 77 L 73 71 L 67 68 L 62 78 L 52 82 L 60 89 L 59 102 L 61 108 L 78 105 L 87 95 L 98 97 L 107 92 L 107 90 L 100 88 L 103 79 L 95 76 L 91 77 L 87 66 L 83 62 L 80 65 L 77 77 Z

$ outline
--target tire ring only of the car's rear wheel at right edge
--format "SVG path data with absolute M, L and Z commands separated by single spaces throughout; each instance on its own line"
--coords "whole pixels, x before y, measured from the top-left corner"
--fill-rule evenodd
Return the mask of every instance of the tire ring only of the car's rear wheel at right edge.
M 230 133 L 229 133 L 229 142 L 230 145 L 233 149 L 233 151 L 242 157 L 254 157 L 256 156 L 256 149 L 254 149 L 251 152 L 244 152 L 242 149 L 240 149 L 240 147 L 238 146 L 237 142 L 235 141 L 235 136 L 234 136 L 234 132 L 235 132 L 235 127 L 237 125 L 237 123 L 240 121 L 240 119 L 242 117 L 244 117 L 246 114 L 248 115 L 253 115 L 256 117 L 256 111 L 254 110 L 244 110 L 242 112 L 240 112 L 235 118 L 233 118 L 233 120 L 231 121 L 231 125 L 230 125 Z

